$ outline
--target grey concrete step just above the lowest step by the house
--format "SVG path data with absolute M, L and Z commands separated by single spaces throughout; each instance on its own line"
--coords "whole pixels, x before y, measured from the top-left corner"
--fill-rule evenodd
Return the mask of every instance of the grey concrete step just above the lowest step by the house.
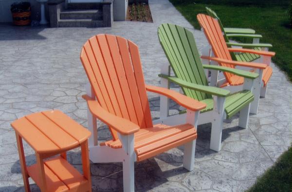
M 102 20 L 102 11 L 99 9 L 67 9 L 60 13 L 60 19 Z

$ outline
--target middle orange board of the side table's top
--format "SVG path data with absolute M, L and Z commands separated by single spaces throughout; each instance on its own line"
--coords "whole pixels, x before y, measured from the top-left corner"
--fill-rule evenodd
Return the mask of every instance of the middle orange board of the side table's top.
M 25 116 L 39 131 L 45 134 L 60 149 L 65 150 L 79 145 L 71 135 L 60 129 L 53 121 L 42 113 Z

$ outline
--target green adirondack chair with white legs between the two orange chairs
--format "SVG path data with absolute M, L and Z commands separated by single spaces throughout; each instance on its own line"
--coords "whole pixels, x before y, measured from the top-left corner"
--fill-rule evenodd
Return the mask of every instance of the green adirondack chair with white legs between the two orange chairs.
M 169 88 L 169 82 L 174 82 L 182 87 L 186 96 L 206 103 L 207 107 L 200 112 L 198 124 L 212 123 L 210 149 L 219 151 L 223 119 L 240 112 L 238 126 L 247 128 L 250 103 L 254 99 L 252 93 L 254 79 L 258 74 L 228 67 L 202 65 L 193 34 L 181 26 L 162 24 L 158 28 L 158 37 L 175 74 L 175 77 L 171 77 L 169 65 L 164 65 L 162 74 L 159 75 L 162 77 L 161 86 Z M 208 86 L 204 69 L 219 70 L 244 77 L 243 90 L 230 94 L 229 90 Z M 168 116 L 168 106 L 168 99 L 161 97 L 160 119 L 155 123 L 183 122 L 186 115 L 180 113 Z

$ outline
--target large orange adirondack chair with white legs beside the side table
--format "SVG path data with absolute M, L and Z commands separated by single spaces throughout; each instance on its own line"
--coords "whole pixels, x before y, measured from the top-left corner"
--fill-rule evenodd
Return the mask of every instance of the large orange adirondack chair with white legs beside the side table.
M 194 166 L 198 113 L 206 105 L 175 91 L 145 85 L 137 45 L 113 35 L 97 35 L 83 46 L 80 59 L 89 78 L 90 159 L 123 162 L 124 191 L 134 191 L 134 161 L 184 145 L 183 166 Z M 187 108 L 186 124 L 153 125 L 146 90 Z M 96 118 L 109 126 L 112 140 L 97 144 Z

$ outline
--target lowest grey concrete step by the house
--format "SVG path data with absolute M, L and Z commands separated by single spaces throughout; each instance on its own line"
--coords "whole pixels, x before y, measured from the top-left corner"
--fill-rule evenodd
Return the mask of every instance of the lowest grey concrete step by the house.
M 60 19 L 59 27 L 103 27 L 102 20 L 94 19 Z

